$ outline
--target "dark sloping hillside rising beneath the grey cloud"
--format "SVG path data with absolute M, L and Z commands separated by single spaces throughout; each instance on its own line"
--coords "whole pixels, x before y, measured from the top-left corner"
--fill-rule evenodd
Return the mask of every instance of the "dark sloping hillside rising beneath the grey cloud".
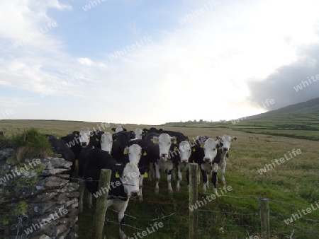
M 297 103 L 282 107 L 278 110 L 268 111 L 259 115 L 252 115 L 247 119 L 261 119 L 265 117 L 272 117 L 276 115 L 291 115 L 291 114 L 315 114 L 319 113 L 319 98 L 308 100 L 305 102 Z

